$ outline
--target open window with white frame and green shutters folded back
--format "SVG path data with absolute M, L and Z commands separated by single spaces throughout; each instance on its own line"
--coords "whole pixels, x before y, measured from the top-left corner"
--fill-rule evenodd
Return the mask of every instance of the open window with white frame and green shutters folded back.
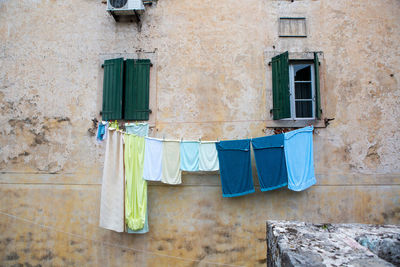
M 274 120 L 314 120 L 321 118 L 319 61 L 289 60 L 285 52 L 272 58 Z

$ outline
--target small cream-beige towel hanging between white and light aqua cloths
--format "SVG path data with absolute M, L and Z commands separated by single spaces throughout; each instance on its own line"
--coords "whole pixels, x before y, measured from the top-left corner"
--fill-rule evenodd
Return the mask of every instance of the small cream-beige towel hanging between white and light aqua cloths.
M 163 141 L 161 181 L 166 184 L 181 184 L 180 142 Z

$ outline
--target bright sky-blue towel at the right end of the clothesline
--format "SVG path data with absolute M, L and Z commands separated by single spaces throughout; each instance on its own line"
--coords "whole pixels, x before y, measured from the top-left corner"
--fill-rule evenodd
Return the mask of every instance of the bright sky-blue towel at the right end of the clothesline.
M 315 184 L 313 132 L 309 126 L 284 133 L 288 188 L 302 191 Z

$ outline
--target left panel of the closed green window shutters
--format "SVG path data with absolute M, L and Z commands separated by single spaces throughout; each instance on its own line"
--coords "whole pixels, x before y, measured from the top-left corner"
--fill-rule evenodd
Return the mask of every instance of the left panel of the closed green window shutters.
M 105 121 L 122 119 L 122 90 L 124 59 L 104 61 L 103 108 Z

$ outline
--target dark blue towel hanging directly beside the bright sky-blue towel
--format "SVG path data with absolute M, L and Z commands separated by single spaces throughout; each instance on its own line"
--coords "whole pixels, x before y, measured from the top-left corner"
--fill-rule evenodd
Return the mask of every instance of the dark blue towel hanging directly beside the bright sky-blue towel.
M 261 191 L 286 186 L 288 183 L 284 135 L 271 135 L 252 139 Z

